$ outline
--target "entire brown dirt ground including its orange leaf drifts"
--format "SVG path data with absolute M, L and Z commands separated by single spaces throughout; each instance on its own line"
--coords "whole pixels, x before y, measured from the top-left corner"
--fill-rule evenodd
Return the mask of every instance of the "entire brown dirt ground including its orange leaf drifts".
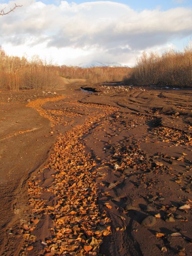
M 0 255 L 191 255 L 192 90 L 81 86 L 0 92 Z

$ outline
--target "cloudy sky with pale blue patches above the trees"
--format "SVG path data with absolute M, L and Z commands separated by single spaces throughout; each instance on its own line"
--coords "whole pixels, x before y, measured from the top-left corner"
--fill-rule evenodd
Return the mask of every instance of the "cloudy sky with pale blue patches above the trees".
M 133 66 L 142 52 L 182 50 L 192 35 L 192 0 L 0 0 L 0 45 L 59 65 Z

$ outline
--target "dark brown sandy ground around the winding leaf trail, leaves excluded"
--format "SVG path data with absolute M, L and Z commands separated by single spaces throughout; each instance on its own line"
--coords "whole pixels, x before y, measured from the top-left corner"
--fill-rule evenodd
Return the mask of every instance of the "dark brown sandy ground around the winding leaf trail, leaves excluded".
M 111 235 L 103 239 L 100 254 L 94 255 L 148 256 L 161 255 L 162 251 L 167 255 L 191 255 L 191 210 L 179 207 L 190 205 L 192 200 L 192 90 L 113 84 L 94 85 L 97 92 L 87 93 L 80 87 L 67 85 L 56 91 L 67 98 L 43 106 L 53 116 L 57 115 L 53 110 L 64 108 L 73 113 L 74 116 L 64 113 L 65 125 L 54 127 L 26 104 L 28 99 L 58 95 L 42 91 L 0 93 L 0 254 L 43 255 L 40 241 L 50 236 L 53 227 L 47 215 L 41 215 L 33 231 L 33 249 L 25 252 L 23 223 L 34 226 L 30 221 L 34 214 L 28 203 L 27 181 L 48 163 L 57 136 L 95 115 L 96 107 L 85 103 L 96 103 L 118 110 L 112 115 L 106 112 L 80 138 L 86 153 L 91 153 L 97 163 L 99 209 L 107 211 L 111 219 Z M 81 104 L 76 104 L 77 100 Z M 50 186 L 53 174 L 54 170 L 46 170 L 38 176 L 42 187 Z M 50 198 L 43 199 L 55 205 Z M 152 226 L 141 224 L 147 216 L 155 215 Z M 163 235 L 156 237 L 157 233 Z

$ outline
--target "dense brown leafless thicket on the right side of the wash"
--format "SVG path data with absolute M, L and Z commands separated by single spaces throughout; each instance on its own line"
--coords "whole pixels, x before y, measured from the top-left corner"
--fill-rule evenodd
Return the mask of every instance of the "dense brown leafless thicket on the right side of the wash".
M 169 50 L 162 55 L 143 53 L 124 79 L 134 85 L 192 86 L 192 49 Z

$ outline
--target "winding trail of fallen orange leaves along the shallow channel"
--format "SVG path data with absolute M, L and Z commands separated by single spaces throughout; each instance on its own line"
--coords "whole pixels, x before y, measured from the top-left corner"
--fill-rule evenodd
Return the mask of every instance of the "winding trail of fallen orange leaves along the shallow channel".
M 42 105 L 63 98 L 39 99 L 28 106 L 51 120 L 54 126 L 62 111 L 55 117 L 51 113 L 57 114 L 57 111 L 45 110 Z M 99 211 L 97 203 L 97 163 L 91 153 L 85 153 L 80 139 L 118 108 L 91 103 L 75 105 L 96 111 L 82 125 L 58 136 L 48 165 L 28 182 L 32 218 L 23 223 L 25 243 L 20 255 L 99 255 L 103 237 L 111 234 L 110 219 L 105 210 Z

